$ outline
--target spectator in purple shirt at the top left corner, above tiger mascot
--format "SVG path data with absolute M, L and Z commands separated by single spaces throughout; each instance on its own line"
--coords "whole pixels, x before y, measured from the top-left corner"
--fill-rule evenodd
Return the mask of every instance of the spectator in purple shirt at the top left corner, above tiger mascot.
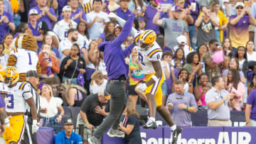
M 0 0 L 0 42 L 3 40 L 6 33 L 14 31 L 14 19 L 10 13 L 4 11 L 4 0 Z

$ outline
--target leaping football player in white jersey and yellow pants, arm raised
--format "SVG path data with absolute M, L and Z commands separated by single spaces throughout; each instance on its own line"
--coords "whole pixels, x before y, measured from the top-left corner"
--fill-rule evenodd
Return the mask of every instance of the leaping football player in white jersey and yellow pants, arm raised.
M 114 13 L 110 13 L 110 18 L 117 19 L 120 26 L 124 26 L 125 21 L 119 18 Z M 146 83 L 138 84 L 135 88 L 137 91 L 144 92 L 148 99 L 149 106 L 149 121 L 143 126 L 144 128 L 157 128 L 156 126 L 156 110 L 169 124 L 172 131 L 172 144 L 178 140 L 178 135 L 182 128 L 176 126 L 171 119 L 171 113 L 162 104 L 161 84 L 164 82 L 164 74 L 161 70 L 161 55 L 162 50 L 156 43 L 156 33 L 152 30 L 137 31 L 132 28 L 132 35 L 134 35 L 139 50 L 139 61 L 142 63 L 142 73 L 145 74 Z

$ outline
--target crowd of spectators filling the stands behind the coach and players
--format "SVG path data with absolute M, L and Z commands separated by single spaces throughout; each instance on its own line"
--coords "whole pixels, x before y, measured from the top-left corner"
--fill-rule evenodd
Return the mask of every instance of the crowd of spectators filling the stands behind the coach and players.
M 60 126 L 63 106 L 80 107 L 85 142 L 108 115 L 107 70 L 98 45 L 122 31 L 111 12 L 125 21 L 135 13 L 134 28 L 156 32 L 163 51 L 163 104 L 177 126 L 191 126 L 190 113 L 204 110 L 208 126 L 231 126 L 230 111 L 245 111 L 246 126 L 256 126 L 255 0 L 0 0 L 0 71 L 21 43 L 18 35 L 33 35 L 37 42 L 41 126 Z M 122 48 L 134 40 L 129 35 Z M 135 48 L 125 58 L 127 96 L 146 107 L 134 90 L 145 79 L 140 61 Z M 130 105 L 124 111 L 128 123 L 120 126 L 127 143 L 129 126 L 138 131 Z M 64 125 L 66 133 L 73 120 Z

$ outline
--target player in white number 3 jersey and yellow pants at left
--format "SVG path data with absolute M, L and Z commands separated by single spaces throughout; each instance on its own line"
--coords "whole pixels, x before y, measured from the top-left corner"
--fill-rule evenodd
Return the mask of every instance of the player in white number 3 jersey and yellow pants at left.
M 38 131 L 38 121 L 36 113 L 36 105 L 31 94 L 31 85 L 28 82 L 18 82 L 19 74 L 15 67 L 7 67 L 4 82 L 9 87 L 6 95 L 6 113 L 9 118 L 5 119 L 5 123 L 10 126 L 6 127 L 3 138 L 6 143 L 20 143 L 26 127 L 26 118 L 24 113 L 27 106 L 31 107 L 33 117 L 32 133 Z

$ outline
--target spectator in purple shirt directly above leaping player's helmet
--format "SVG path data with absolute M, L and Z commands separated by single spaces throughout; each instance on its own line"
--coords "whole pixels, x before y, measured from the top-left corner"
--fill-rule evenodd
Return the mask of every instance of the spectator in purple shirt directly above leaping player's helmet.
M 146 18 L 146 30 L 151 29 L 156 32 L 156 34 L 160 34 L 159 26 L 153 23 L 153 18 L 157 12 L 157 6 L 155 0 L 150 1 L 150 6 L 144 6 L 142 9 L 142 16 Z M 164 17 L 164 12 L 161 11 L 159 18 Z

